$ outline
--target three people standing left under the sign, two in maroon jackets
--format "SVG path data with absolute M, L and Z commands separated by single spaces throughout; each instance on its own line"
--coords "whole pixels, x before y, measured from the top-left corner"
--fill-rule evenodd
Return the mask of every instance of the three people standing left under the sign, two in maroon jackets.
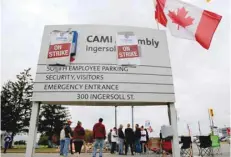
M 69 146 L 72 146 L 72 143 L 75 145 L 75 156 L 79 157 L 83 142 L 84 142 L 84 136 L 85 136 L 85 130 L 82 127 L 82 123 L 78 121 L 77 126 L 75 127 L 74 131 L 72 131 L 70 125 L 72 122 L 69 120 L 67 124 L 63 126 L 63 129 L 60 132 L 60 155 L 67 157 L 69 152 Z M 103 119 L 100 118 L 98 123 L 96 123 L 93 127 L 93 138 L 95 140 L 94 142 L 94 148 L 92 156 L 96 157 L 97 149 L 100 149 L 99 156 L 103 156 L 103 145 L 104 141 L 106 139 L 106 129 L 103 125 Z M 71 147 L 72 149 L 72 147 Z M 71 150 L 71 153 L 74 154 L 74 152 Z

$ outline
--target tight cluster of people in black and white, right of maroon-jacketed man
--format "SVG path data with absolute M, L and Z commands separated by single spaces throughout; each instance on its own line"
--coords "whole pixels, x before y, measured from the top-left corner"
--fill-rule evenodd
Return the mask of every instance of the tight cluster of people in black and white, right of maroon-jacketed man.
M 111 154 L 114 154 L 118 146 L 119 155 L 127 155 L 128 147 L 130 147 L 131 154 L 146 153 L 146 143 L 149 140 L 147 129 L 141 128 L 136 124 L 135 131 L 131 128 L 130 124 L 127 124 L 127 128 L 123 132 L 123 125 L 120 125 L 117 130 L 116 127 L 110 130 L 108 134 L 108 142 L 111 145 Z M 125 146 L 125 151 L 124 151 Z

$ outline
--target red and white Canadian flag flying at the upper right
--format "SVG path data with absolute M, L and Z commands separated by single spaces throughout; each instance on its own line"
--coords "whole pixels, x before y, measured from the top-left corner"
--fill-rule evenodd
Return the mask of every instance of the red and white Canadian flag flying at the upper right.
M 156 0 L 155 19 L 173 36 L 196 40 L 209 49 L 222 16 L 180 0 Z

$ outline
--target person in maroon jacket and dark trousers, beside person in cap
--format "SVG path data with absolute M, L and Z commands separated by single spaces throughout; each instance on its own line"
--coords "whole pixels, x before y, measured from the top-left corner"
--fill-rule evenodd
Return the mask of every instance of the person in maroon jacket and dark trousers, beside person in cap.
M 85 136 L 85 130 L 82 127 L 82 123 L 80 121 L 78 121 L 77 126 L 74 129 L 73 135 L 74 135 L 73 142 L 75 145 L 75 153 L 76 156 L 79 157 L 82 150 L 84 136 Z

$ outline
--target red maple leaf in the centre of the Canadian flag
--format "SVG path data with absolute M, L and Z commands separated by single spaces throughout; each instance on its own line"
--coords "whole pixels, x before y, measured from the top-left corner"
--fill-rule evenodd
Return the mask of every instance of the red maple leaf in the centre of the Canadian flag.
M 187 14 L 188 11 L 186 11 L 185 8 L 182 7 L 177 9 L 177 13 L 169 10 L 168 16 L 172 19 L 173 23 L 178 25 L 177 29 L 179 30 L 180 26 L 185 28 L 186 26 L 193 24 L 194 19 L 190 16 L 186 18 Z

